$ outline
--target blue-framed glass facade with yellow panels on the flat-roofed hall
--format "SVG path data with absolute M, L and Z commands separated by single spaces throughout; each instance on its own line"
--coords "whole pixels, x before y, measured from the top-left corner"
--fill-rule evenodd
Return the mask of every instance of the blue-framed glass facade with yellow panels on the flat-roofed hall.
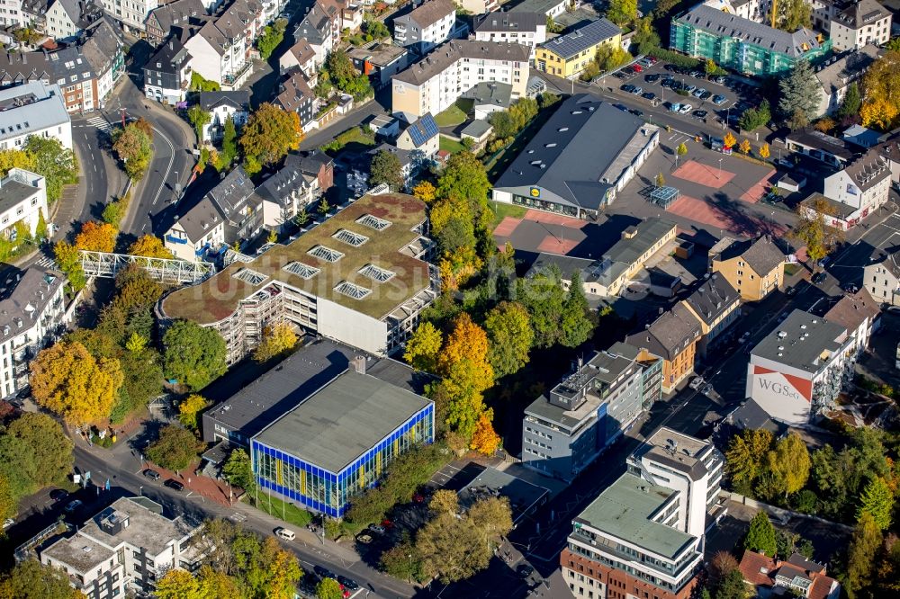
M 434 442 L 435 406 L 428 402 L 338 471 L 322 468 L 314 458 L 302 459 L 284 448 L 270 446 L 260 440 L 264 435 L 250 441 L 257 485 L 321 514 L 341 517 L 351 498 L 372 487 L 392 460 L 414 445 Z

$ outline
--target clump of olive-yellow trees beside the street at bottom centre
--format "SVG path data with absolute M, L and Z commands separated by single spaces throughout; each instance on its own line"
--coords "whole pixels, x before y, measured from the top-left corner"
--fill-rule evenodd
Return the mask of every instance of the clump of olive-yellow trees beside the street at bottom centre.
M 501 537 L 512 530 L 512 512 L 505 497 L 476 501 L 461 513 L 454 491 L 432 496 L 431 519 L 415 538 L 406 537 L 383 553 L 382 568 L 394 577 L 425 582 L 438 577 L 444 584 L 472 577 L 488 567 Z

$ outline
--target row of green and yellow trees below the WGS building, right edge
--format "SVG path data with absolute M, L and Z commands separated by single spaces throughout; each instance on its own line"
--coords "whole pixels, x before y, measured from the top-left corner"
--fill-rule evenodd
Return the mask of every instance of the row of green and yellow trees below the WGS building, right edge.
M 775 440 L 765 430 L 735 436 L 725 453 L 734 489 L 806 514 L 842 522 L 872 518 L 879 530 L 892 522 L 896 471 L 881 434 L 851 431 L 842 450 L 806 449 L 796 432 Z

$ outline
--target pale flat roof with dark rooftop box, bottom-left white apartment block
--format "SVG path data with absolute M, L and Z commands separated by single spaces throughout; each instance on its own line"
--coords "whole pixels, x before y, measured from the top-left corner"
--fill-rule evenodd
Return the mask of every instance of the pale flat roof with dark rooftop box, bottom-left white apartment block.
M 103 518 L 112 512 L 127 514 L 129 521 L 128 526 L 114 535 L 104 531 L 100 525 Z M 170 542 L 182 539 L 193 530 L 195 527 L 185 523 L 181 517 L 169 520 L 129 497 L 121 497 L 85 522 L 78 534 L 90 537 L 108 547 L 116 547 L 121 542 L 127 542 L 134 547 L 147 550 L 148 557 L 152 558 L 166 550 Z

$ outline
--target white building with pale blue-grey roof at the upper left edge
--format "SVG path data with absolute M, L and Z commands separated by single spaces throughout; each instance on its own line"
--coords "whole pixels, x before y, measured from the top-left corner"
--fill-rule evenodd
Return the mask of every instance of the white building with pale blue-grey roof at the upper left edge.
M 22 148 L 31 135 L 72 149 L 72 121 L 59 85 L 31 81 L 0 90 L 0 149 Z

